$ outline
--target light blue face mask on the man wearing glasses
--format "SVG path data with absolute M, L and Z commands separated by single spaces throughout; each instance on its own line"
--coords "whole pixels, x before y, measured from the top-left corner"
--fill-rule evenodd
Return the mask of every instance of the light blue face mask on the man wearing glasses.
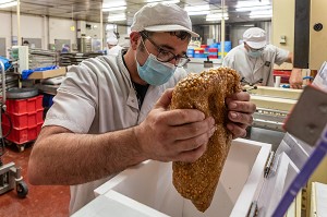
M 168 82 L 173 75 L 175 68 L 169 62 L 160 62 L 157 58 L 149 53 L 146 62 L 141 67 L 136 60 L 137 72 L 140 77 L 150 85 L 161 85 Z

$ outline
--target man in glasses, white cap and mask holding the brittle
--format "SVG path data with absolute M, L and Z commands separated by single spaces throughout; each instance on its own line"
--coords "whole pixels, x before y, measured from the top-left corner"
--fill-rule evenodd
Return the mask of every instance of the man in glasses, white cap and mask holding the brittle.
M 194 161 L 214 134 L 213 117 L 170 110 L 172 88 L 186 76 L 192 23 L 175 4 L 143 7 L 131 26 L 128 51 L 74 65 L 57 91 L 34 144 L 32 184 L 71 185 L 71 214 L 118 172 L 147 159 Z M 245 136 L 255 105 L 250 95 L 227 98 L 227 128 Z

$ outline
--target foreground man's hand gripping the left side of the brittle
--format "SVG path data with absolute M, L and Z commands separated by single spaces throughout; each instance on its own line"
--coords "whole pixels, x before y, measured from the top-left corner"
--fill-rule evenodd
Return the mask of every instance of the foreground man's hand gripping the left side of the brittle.
M 214 118 L 196 109 L 169 110 L 172 89 L 164 93 L 145 121 L 135 126 L 143 155 L 160 161 L 195 161 L 214 134 Z

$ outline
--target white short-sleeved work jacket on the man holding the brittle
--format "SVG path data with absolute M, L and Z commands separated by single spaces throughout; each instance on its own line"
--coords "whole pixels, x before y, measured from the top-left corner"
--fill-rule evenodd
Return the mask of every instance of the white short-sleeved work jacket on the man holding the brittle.
M 44 125 L 60 125 L 74 133 L 93 134 L 131 128 L 146 118 L 165 89 L 174 87 L 184 76 L 184 69 L 178 68 L 168 83 L 150 85 L 138 109 L 136 93 L 121 52 L 85 60 L 68 72 Z M 70 213 L 92 201 L 94 190 L 110 178 L 71 186 Z

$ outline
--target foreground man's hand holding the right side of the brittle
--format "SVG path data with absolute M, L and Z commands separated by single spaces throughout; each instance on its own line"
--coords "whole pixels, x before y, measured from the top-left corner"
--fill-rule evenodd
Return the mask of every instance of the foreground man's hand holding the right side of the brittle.
M 227 128 L 233 133 L 233 138 L 245 137 L 246 128 L 252 124 L 256 106 L 250 101 L 250 94 L 240 92 L 226 98 L 230 122 Z

